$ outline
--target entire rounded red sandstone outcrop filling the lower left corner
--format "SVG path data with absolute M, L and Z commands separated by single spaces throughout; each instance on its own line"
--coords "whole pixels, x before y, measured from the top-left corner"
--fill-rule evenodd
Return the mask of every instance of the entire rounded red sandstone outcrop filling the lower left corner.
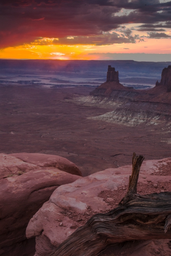
M 26 239 L 29 220 L 56 188 L 80 176 L 74 163 L 56 155 L 0 154 L 0 255 L 34 254 L 35 241 Z

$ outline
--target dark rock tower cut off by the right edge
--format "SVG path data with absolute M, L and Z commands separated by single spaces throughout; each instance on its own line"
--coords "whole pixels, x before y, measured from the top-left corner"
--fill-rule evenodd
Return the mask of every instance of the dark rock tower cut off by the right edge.
M 156 82 L 156 86 L 167 86 L 167 93 L 170 93 L 171 91 L 171 65 L 168 66 L 168 68 L 164 68 L 161 73 L 161 81 L 160 83 Z

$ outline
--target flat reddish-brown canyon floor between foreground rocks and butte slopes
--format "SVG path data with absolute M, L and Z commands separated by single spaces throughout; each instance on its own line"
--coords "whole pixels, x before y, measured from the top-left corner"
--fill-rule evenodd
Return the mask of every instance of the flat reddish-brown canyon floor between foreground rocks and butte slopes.
M 87 119 L 112 111 L 70 101 L 92 88 L 0 85 L 0 153 L 45 153 L 74 162 L 83 176 L 145 160 L 171 157 L 171 128 L 127 127 Z

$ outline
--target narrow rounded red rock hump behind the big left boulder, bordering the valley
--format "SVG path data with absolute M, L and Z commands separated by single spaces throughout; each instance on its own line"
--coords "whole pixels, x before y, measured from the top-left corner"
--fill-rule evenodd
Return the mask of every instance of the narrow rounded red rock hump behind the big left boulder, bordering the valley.
M 10 155 L 19 158 L 24 162 L 33 163 L 39 167 L 54 167 L 67 173 L 82 176 L 81 171 L 74 163 L 64 157 L 59 157 L 58 155 L 39 153 L 16 153 Z

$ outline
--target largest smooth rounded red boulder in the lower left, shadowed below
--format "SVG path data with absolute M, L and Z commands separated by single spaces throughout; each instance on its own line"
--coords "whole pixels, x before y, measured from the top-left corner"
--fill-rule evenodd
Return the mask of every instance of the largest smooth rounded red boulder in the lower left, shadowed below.
M 26 238 L 33 215 L 49 200 L 53 191 L 80 177 L 53 167 L 31 170 L 0 180 L 0 249 Z

